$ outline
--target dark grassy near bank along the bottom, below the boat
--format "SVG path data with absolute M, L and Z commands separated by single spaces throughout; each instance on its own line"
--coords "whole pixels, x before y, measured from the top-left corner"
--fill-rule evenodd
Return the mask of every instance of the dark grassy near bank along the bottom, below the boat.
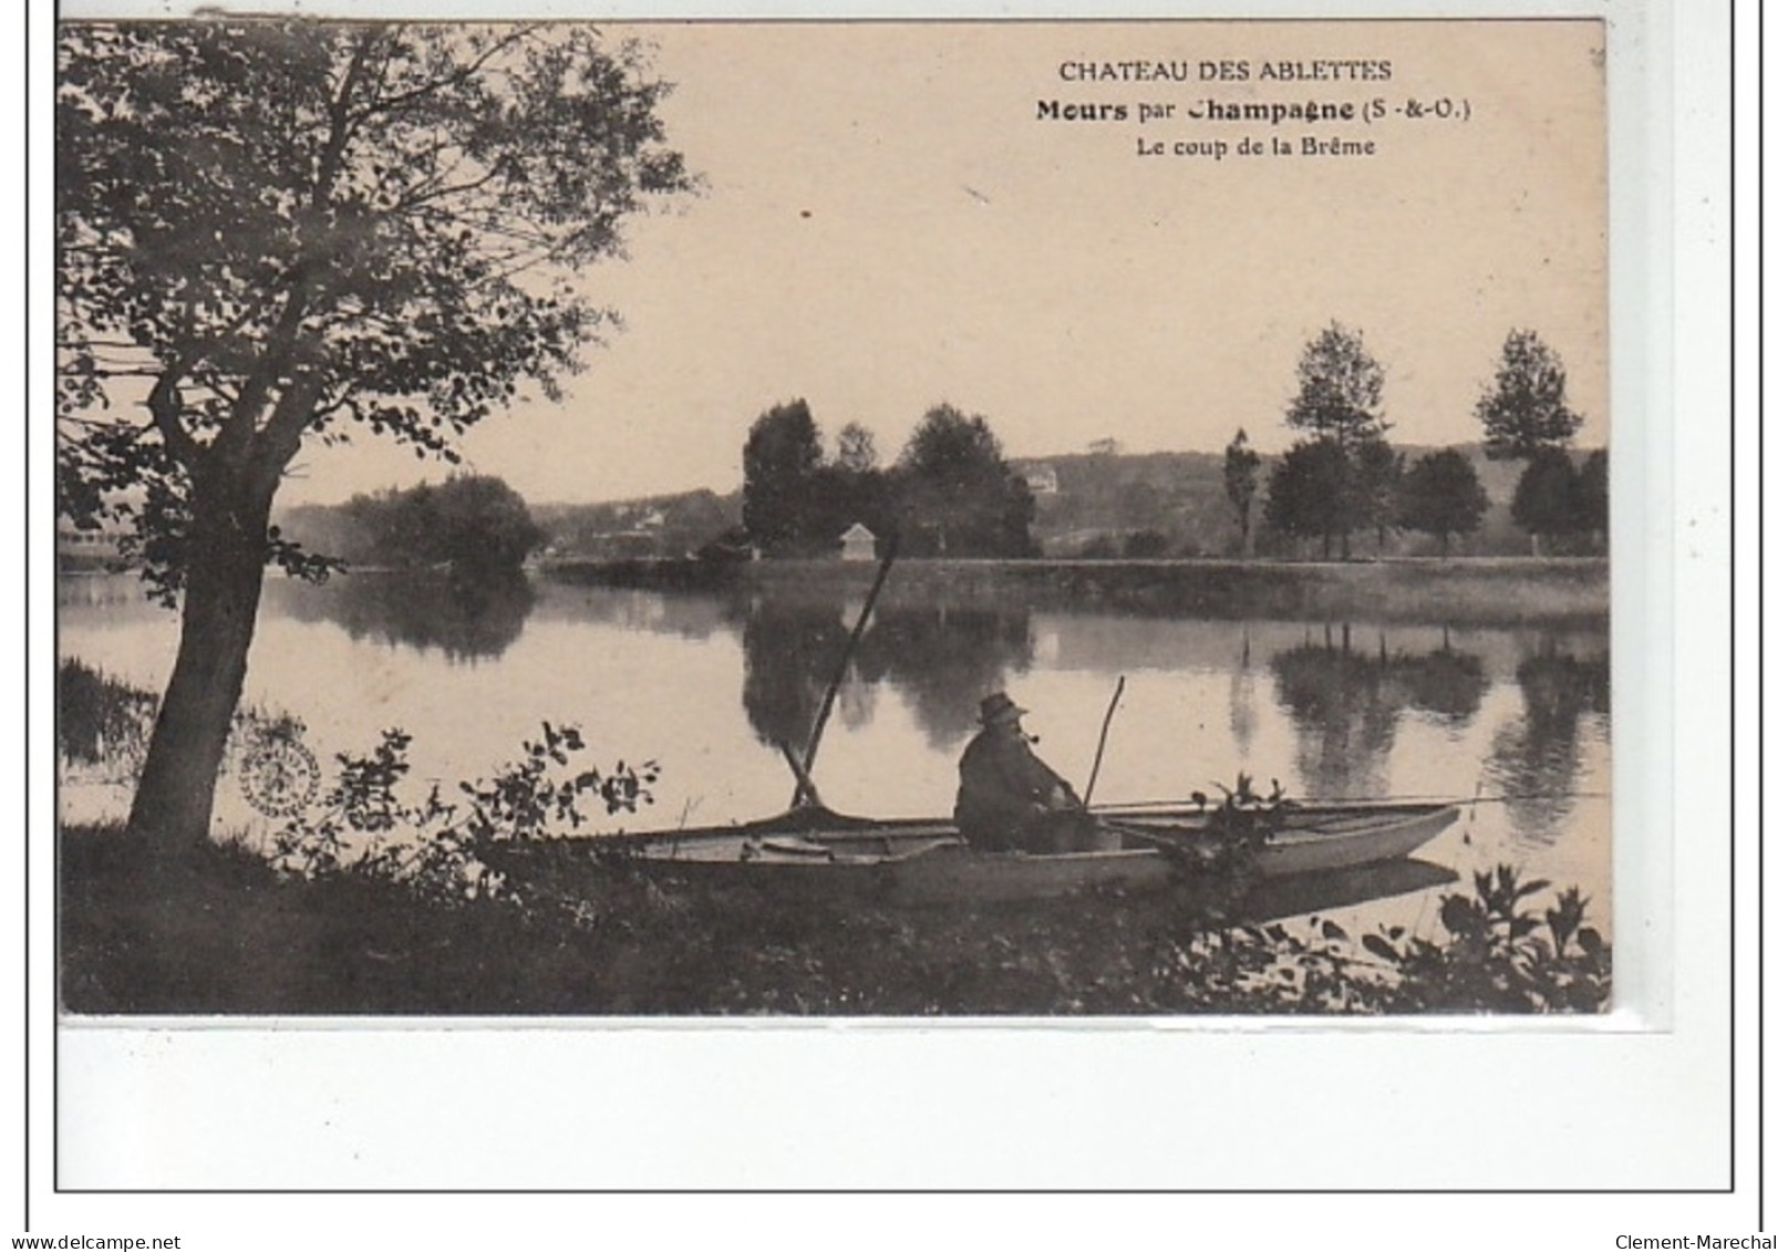
M 1198 891 L 789 909 L 617 869 L 576 901 L 442 901 L 377 873 L 281 875 L 238 848 L 157 860 L 116 828 L 63 832 L 59 871 L 61 1000 L 80 1014 L 1593 1011 L 1611 962 L 1575 923 L 1550 955 L 1527 934 L 1550 916 L 1513 921 L 1529 891 L 1513 880 L 1450 896 L 1450 935 L 1427 943 L 1214 923 Z

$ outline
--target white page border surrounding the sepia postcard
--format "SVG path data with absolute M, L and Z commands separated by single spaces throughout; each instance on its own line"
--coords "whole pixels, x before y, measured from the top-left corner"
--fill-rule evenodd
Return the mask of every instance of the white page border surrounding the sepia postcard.
M 88 7 L 72 4 L 66 11 L 77 14 Z M 139 7 L 168 13 L 168 5 Z M 107 5 L 107 11 L 120 9 L 127 7 Z M 415 9 L 436 16 L 451 11 L 438 2 Z M 526 9 L 540 16 L 590 14 L 588 7 L 569 4 Z M 719 7 L 704 9 L 721 14 Z M 1237 9 L 1232 5 L 1225 16 Z M 1312 16 L 1293 5 L 1241 9 L 1248 16 Z M 1373 5 L 1371 13 L 1488 16 L 1511 9 L 1502 4 L 1404 4 Z M 384 11 L 408 9 L 381 7 Z M 738 13 L 737 7 L 728 11 Z M 849 5 L 846 11 L 889 13 L 885 5 Z M 964 13 L 960 5 L 949 11 Z M 1346 5 L 1346 11 L 1359 11 L 1359 5 Z M 367 9 L 354 5 L 352 13 L 359 16 Z M 619 13 L 645 16 L 638 5 L 604 5 L 595 16 Z M 679 7 L 679 13 L 692 11 Z M 817 5 L 776 5 L 776 13 L 821 16 Z M 826 16 L 837 13 L 831 7 Z M 901 9 L 901 16 L 908 13 L 910 7 Z M 1055 13 L 1084 9 L 1050 5 L 1026 11 L 1026 16 Z M 1627 814 L 1618 817 L 1616 952 L 1631 950 L 1641 934 L 1663 935 L 1643 952 L 1640 1003 L 1627 1003 L 1624 994 L 1624 1007 L 1636 1014 L 1615 1023 L 1627 1025 L 1625 1032 L 1511 1030 L 1502 1023 L 1470 1034 L 1445 1027 L 1359 1030 L 1325 1025 L 1286 1032 L 1259 1023 L 1198 1032 L 962 1025 L 944 1030 L 776 1025 L 594 1032 L 381 1032 L 365 1023 L 354 1030 L 82 1028 L 64 1032 L 63 1039 L 63 1111 L 82 1125 L 104 1125 L 105 1134 L 89 1136 L 84 1155 L 64 1159 L 64 1168 L 104 1166 L 113 1177 L 157 1186 L 266 1186 L 268 1180 L 275 1186 L 458 1188 L 1724 1186 L 1727 880 L 1725 817 L 1716 792 L 1725 778 L 1729 681 L 1725 27 L 1711 7 L 1672 13 L 1661 2 L 1547 5 L 1547 13 L 1606 13 L 1613 18 L 1611 43 L 1618 45 L 1634 29 L 1645 39 L 1638 86 L 1624 88 L 1627 80 L 1616 79 L 1611 91 L 1615 404 L 1622 413 L 1613 442 L 1616 499 L 1624 501 L 1616 544 L 1636 540 L 1638 546 L 1627 551 L 1645 553 L 1638 565 L 1616 565 L 1616 780 L 1645 778 L 1641 812 L 1674 812 L 1684 846 L 1675 857 L 1674 882 L 1650 876 L 1649 866 L 1663 864 L 1654 855 L 1657 846 L 1647 844 L 1647 855 L 1629 864 L 1627 848 L 1634 841 L 1627 839 Z M 980 16 L 1007 14 L 989 5 Z M 1126 16 L 1191 14 L 1178 5 L 1137 5 L 1126 9 Z M 32 38 L 38 123 L 46 134 L 41 5 L 34 5 L 34 21 L 39 23 Z M 1615 54 L 1611 61 L 1618 68 Z M 1622 106 L 1624 89 L 1636 89 L 1647 106 L 1638 111 Z M 1643 118 L 1643 125 L 1634 118 Z M 48 270 L 41 243 L 46 215 L 38 207 L 45 200 L 46 148 L 46 140 L 34 134 L 38 200 L 32 229 L 39 241 L 30 258 L 39 293 L 46 290 L 43 275 Z M 1638 173 L 1629 165 L 1634 154 L 1643 157 Z M 1624 216 L 1636 200 L 1645 206 L 1638 225 Z M 1636 231 L 1632 238 L 1643 247 L 1624 245 L 1624 231 Z M 1629 265 L 1625 258 L 1634 250 L 1643 259 Z M 41 331 L 32 326 L 34 361 L 48 356 L 38 338 Z M 39 411 L 46 381 L 36 377 L 34 388 L 38 406 L 32 411 Z M 1672 404 L 1649 411 L 1640 451 L 1638 440 L 1622 436 L 1632 429 L 1629 408 L 1650 397 L 1672 397 Z M 1688 415 L 1697 420 L 1686 420 Z M 32 453 L 32 492 L 46 497 L 45 442 L 39 440 Z M 48 515 L 39 508 L 43 503 L 34 499 L 34 519 Z M 1641 583 L 1618 572 L 1629 565 L 1643 571 Z M 38 562 L 29 588 L 39 651 L 50 639 L 48 608 L 54 605 L 45 574 L 46 562 Z M 34 674 L 45 673 L 41 664 L 34 669 Z M 1674 681 L 1663 683 L 1663 674 L 1672 674 Z M 34 689 L 39 698 L 30 742 L 43 757 L 48 742 L 45 683 L 36 681 Z M 1638 705 L 1627 703 L 1634 692 Z M 1693 698 L 1683 698 L 1684 692 Z M 36 778 L 46 776 L 39 762 Z M 1672 787 L 1674 780 L 1690 780 L 1695 787 L 1684 796 Z M 1672 807 L 1674 796 L 1683 799 L 1679 808 Z M 1740 796 L 1745 796 L 1743 783 Z M 1622 789 L 1622 799 L 1631 812 L 1632 794 Z M 41 832 L 46 828 L 46 787 L 36 787 L 32 805 L 30 830 Z M 1668 823 L 1647 821 L 1647 830 L 1668 832 Z M 1742 828 L 1740 851 L 1749 860 L 1747 835 L 1749 828 Z M 1668 842 L 1663 848 L 1668 851 Z M 495 1229 L 486 1223 L 513 1220 L 515 1202 L 501 1200 L 474 1205 L 474 1220 L 467 1222 L 461 1220 L 463 1204 L 436 1202 L 431 1213 L 415 1198 L 48 1195 L 45 1079 L 54 971 L 48 968 L 52 896 L 46 871 L 48 855 L 39 842 L 30 884 L 36 914 L 36 1232 L 97 1232 L 93 1227 L 100 1220 L 111 1231 L 122 1220 L 145 1234 L 156 1232 L 148 1227 L 159 1222 L 215 1232 L 252 1229 L 256 1241 L 268 1247 L 288 1241 L 308 1247 L 324 1232 L 342 1247 L 372 1247 L 372 1241 L 354 1241 L 359 1236 L 343 1236 L 347 1227 L 342 1223 L 358 1218 L 342 1214 L 381 1211 L 402 1213 L 406 1241 L 474 1247 L 477 1234 Z M 1742 912 L 1745 905 L 1742 889 Z M 1632 907 L 1640 907 L 1638 925 L 1627 912 Z M 1659 918 L 1672 916 L 1684 925 L 1656 926 Z M 1750 934 L 1749 923 L 1745 934 Z M 1750 969 L 1743 935 L 1740 941 L 1740 966 Z M 1675 973 L 1674 987 L 1652 978 L 1652 971 L 1663 969 Z M 1738 1039 L 1754 1048 L 1743 1003 L 1747 986 L 1754 980 L 1740 982 Z M 1643 1028 L 1631 1030 L 1634 1021 Z M 1754 1062 L 1740 1061 L 1738 1084 L 1738 1161 L 1733 1164 L 1745 1188 L 1747 1179 L 1756 1177 L 1754 1138 L 1745 1118 L 1756 1102 Z M 1561 1173 L 1570 1177 L 1561 1179 Z M 1266 1209 L 1275 1225 L 1280 1218 L 1302 1218 L 1321 1222 L 1305 1231 L 1330 1234 L 1332 1218 L 1323 1214 L 1336 1211 L 1382 1209 L 1398 1223 L 1413 1213 L 1441 1211 L 1434 1200 L 1420 1197 L 1328 1198 L 1327 1204 L 1321 1197 L 1275 1197 L 1252 1205 L 1237 1200 L 1203 1197 L 1200 1211 L 1241 1214 L 1241 1222 L 1264 1231 L 1261 1214 Z M 1495 1205 L 1498 1216 L 1489 1222 L 1466 1218 L 1470 1225 L 1461 1225 L 1463 1213 L 1455 1211 L 1429 1227 L 1432 1238 L 1452 1247 L 1479 1247 L 1479 1236 L 1486 1245 L 1511 1238 L 1550 1245 L 1564 1229 L 1582 1229 L 1588 1245 L 1595 1245 L 1602 1238 L 1613 1241 L 1620 1231 L 1674 1232 L 1654 1225 L 1656 1214 L 1672 1204 L 1702 1214 L 1695 1218 L 1697 1229 L 1738 1232 L 1754 1222 L 1754 1216 L 1742 1216 L 1754 1214 L 1754 1204 L 1747 1209 L 1742 1197 L 1674 1202 L 1522 1197 L 1523 1213 L 1568 1223 L 1531 1229 L 1507 1220 L 1504 1209 L 1511 1200 L 1514 1197 L 1472 1202 L 1464 1207 Z M 667 1204 L 615 1202 L 613 1207 L 660 1220 Z M 830 1207 L 817 1200 L 805 1204 Z M 1053 1204 L 999 1205 L 999 1211 L 1035 1222 L 1035 1214 Z M 869 1202 L 865 1207 L 883 1205 Z M 933 1213 L 951 1204 L 926 1200 L 910 1207 Z M 710 1213 L 724 1205 L 681 1198 L 674 1209 Z M 1135 1202 L 1125 1209 L 1143 1211 L 1159 1211 L 1159 1205 Z M 266 1222 L 274 1213 L 284 1214 L 279 1227 Z M 1586 1218 L 1590 1225 L 1581 1227 Z M 245 1227 L 245 1220 L 252 1225 Z M 824 1231 L 824 1225 L 819 1222 L 815 1229 Z M 806 1243 L 801 1229 L 805 1222 L 796 1229 L 778 1222 L 772 1238 Z M 899 1225 L 881 1229 L 894 1232 Z M 1073 1220 L 1058 1227 L 1075 1229 Z M 733 1232 L 753 1234 L 749 1227 Z M 1112 1234 L 1109 1222 L 1100 1232 Z M 835 1241 L 842 1232 L 833 1229 L 830 1234 L 828 1241 Z

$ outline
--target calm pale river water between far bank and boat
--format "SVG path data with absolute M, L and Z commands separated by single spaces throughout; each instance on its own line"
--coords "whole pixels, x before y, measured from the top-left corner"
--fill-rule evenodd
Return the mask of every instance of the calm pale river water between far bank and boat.
M 806 728 L 860 601 L 808 588 L 667 596 L 517 581 L 479 592 L 395 576 L 270 579 L 247 699 L 302 719 L 318 758 L 415 735 L 415 776 L 454 782 L 576 723 L 595 760 L 656 760 L 633 828 L 721 823 L 790 799 L 778 740 Z M 173 613 L 131 578 L 59 585 L 63 655 L 156 689 Z M 839 810 L 937 816 L 980 696 L 1032 710 L 1042 753 L 1085 787 L 1118 676 L 1096 799 L 1216 794 L 1237 771 L 1298 796 L 1511 798 L 1423 850 L 1468 875 L 1498 860 L 1595 896 L 1607 925 L 1609 671 L 1598 630 L 1445 622 L 1200 621 L 987 605 L 878 608 L 840 689 L 815 782 Z M 1586 794 L 1590 792 L 1590 794 Z M 252 812 L 227 782 L 220 821 Z M 72 780 L 64 812 L 122 812 L 122 785 Z M 1421 894 L 1346 912 L 1421 923 Z

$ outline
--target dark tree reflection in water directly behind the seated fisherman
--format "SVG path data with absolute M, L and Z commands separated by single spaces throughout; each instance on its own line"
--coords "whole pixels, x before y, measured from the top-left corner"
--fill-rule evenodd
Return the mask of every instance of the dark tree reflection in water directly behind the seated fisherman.
M 894 683 L 937 749 L 971 733 L 980 698 L 1030 662 L 1026 608 L 878 608 L 858 655 L 860 674 Z

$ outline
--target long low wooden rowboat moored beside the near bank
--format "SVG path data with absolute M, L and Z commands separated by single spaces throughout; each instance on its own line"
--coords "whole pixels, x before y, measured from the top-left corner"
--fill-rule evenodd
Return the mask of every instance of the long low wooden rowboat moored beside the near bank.
M 638 835 L 508 841 L 479 855 L 511 880 L 579 896 L 617 864 L 667 884 L 740 885 L 792 898 L 992 903 L 1089 889 L 1148 891 L 1189 864 L 1177 850 L 1216 841 L 1207 805 L 1096 807 L 1064 851 L 982 851 L 948 819 L 871 819 L 801 805 L 763 821 Z M 1396 862 L 1459 817 L 1454 803 L 1334 801 L 1278 807 L 1250 873 L 1293 878 Z M 1196 864 L 1196 862 L 1193 862 Z

